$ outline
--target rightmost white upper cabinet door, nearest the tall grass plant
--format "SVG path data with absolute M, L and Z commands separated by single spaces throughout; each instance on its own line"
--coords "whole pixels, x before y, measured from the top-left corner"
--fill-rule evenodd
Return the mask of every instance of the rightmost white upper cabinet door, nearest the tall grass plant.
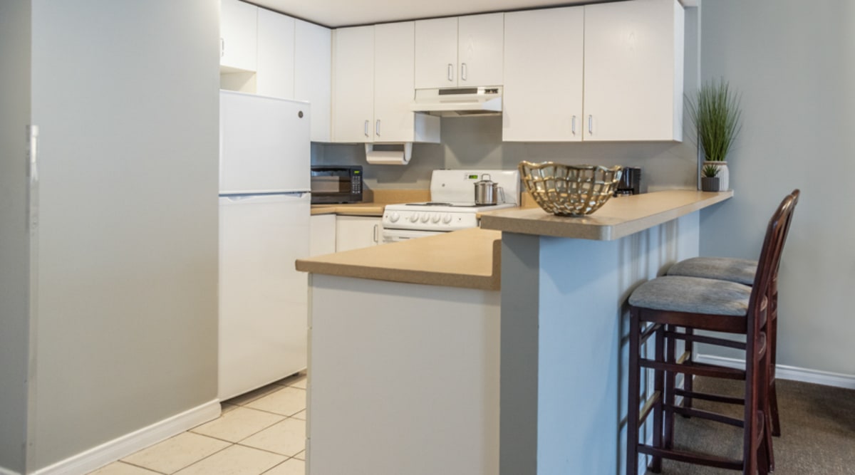
M 681 140 L 683 9 L 585 6 L 585 140 Z

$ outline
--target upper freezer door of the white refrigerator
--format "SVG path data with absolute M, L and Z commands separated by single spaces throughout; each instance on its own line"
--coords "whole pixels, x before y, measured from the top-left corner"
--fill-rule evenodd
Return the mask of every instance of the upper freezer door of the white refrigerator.
M 310 190 L 310 105 L 220 91 L 220 194 Z

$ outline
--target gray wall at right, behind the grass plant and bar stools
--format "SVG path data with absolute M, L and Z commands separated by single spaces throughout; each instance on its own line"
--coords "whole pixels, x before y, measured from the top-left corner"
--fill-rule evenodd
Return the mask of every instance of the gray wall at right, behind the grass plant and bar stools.
M 734 199 L 704 210 L 702 255 L 756 258 L 781 198 L 802 198 L 781 264 L 778 363 L 855 376 L 855 2 L 704 2 L 705 78 L 743 93 Z

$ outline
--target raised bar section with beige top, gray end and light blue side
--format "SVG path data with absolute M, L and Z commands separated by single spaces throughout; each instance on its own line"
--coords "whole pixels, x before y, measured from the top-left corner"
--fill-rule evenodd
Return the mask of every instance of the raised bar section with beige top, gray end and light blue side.
M 696 211 L 730 196 L 662 191 L 582 218 L 485 216 L 482 227 L 503 230 L 502 475 L 622 473 L 628 296 L 698 255 Z

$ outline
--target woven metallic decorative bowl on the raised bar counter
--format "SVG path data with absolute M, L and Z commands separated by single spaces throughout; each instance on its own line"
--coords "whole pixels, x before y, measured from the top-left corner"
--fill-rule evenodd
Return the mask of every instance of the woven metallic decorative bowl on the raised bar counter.
M 519 169 L 522 183 L 540 208 L 559 216 L 581 216 L 609 201 L 623 167 L 521 161 Z

